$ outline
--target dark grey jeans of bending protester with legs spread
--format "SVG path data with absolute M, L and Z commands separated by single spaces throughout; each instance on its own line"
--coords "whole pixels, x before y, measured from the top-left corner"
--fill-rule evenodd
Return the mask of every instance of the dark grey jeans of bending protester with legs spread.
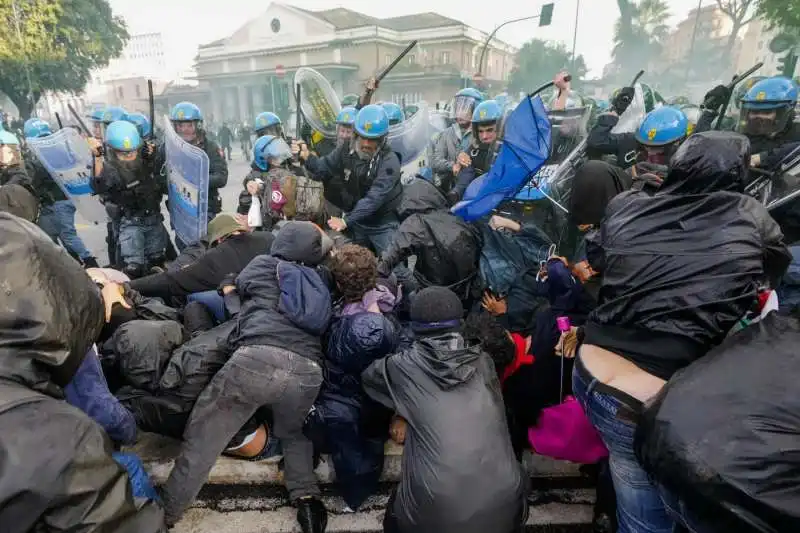
M 321 385 L 320 366 L 294 352 L 274 346 L 236 350 L 203 390 L 186 424 L 180 455 L 164 485 L 167 524 L 180 519 L 231 437 L 262 406 L 271 407 L 275 418 L 289 497 L 319 496 L 314 449 L 303 423 Z

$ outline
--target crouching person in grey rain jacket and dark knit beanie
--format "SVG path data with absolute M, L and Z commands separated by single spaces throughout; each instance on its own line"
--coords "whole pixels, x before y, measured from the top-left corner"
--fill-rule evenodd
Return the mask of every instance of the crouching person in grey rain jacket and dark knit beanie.
M 411 303 L 413 346 L 362 375 L 367 394 L 408 421 L 386 532 L 523 531 L 525 481 L 497 374 L 488 355 L 466 345 L 462 315 L 451 290 L 420 291 Z

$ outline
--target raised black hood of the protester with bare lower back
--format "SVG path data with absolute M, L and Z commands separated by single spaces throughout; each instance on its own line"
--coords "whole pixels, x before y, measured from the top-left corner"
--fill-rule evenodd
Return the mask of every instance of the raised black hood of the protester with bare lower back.
M 705 131 L 681 144 L 659 194 L 741 191 L 750 168 L 750 140 L 739 133 Z

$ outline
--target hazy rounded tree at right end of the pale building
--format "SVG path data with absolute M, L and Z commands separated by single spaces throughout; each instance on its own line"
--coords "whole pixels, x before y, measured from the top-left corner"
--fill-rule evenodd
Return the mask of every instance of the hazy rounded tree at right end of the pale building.
M 573 84 L 589 71 L 582 55 L 575 58 L 575 67 L 572 68 L 572 53 L 563 43 L 551 44 L 541 39 L 531 39 L 517 52 L 508 90 L 532 91 L 552 80 L 561 70 L 568 70 L 572 74 Z

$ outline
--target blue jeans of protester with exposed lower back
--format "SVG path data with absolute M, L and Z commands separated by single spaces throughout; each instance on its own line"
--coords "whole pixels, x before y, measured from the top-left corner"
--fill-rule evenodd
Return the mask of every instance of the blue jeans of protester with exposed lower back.
M 608 448 L 611 478 L 617 493 L 619 533 L 672 533 L 674 522 L 659 488 L 636 459 L 633 447 L 636 424 L 625 420 L 628 407 L 613 396 L 597 392 L 598 381 L 584 380 L 578 364 L 572 374 L 572 393 Z

